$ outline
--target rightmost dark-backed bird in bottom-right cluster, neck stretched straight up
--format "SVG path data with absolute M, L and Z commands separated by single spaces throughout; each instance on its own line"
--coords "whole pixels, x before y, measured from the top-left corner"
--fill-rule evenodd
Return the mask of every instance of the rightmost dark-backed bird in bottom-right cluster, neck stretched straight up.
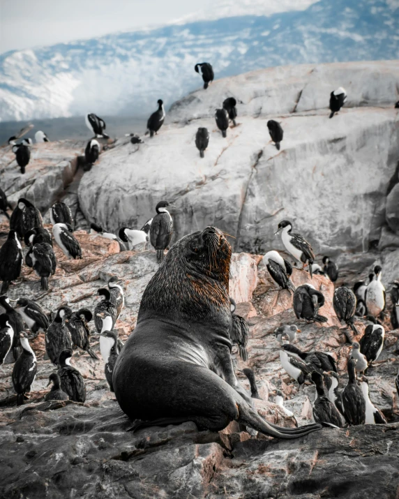
M 356 359 L 349 359 L 347 364 L 349 380 L 342 390 L 342 410 L 350 426 L 364 424 L 366 421 L 366 402 L 359 382 L 356 380 L 355 369 Z

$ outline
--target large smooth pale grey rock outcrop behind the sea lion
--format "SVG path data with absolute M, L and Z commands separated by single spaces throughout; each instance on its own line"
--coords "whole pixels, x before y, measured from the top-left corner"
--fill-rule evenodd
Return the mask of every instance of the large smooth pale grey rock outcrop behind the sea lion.
M 120 140 L 84 175 L 79 197 L 89 221 L 109 230 L 140 228 L 167 198 L 176 204 L 175 234 L 206 225 L 236 239 L 236 251 L 281 248 L 278 222 L 291 219 L 317 253 L 367 251 L 386 218 L 386 195 L 397 183 L 398 61 L 269 68 L 214 82 L 172 105 L 153 139 Z M 330 92 L 348 101 L 329 119 Z M 238 126 L 223 139 L 213 114 L 237 100 Z M 281 122 L 277 151 L 266 128 Z M 199 158 L 195 133 L 210 132 Z M 110 183 L 110 179 L 112 182 Z

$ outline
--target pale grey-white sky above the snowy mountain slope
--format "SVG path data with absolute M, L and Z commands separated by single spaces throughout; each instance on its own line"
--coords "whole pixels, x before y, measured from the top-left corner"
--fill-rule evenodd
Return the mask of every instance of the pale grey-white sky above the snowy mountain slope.
M 317 0 L 0 0 L 0 54 L 231 15 L 270 15 Z

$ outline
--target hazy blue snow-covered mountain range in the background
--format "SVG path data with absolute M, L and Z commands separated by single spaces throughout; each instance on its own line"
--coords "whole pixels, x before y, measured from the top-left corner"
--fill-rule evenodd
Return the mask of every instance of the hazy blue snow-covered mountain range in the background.
M 398 21 L 396 0 L 321 0 L 269 17 L 179 22 L 7 52 L 0 119 L 149 115 L 158 98 L 169 105 L 202 85 L 194 71 L 202 61 L 219 78 L 283 64 L 399 59 Z

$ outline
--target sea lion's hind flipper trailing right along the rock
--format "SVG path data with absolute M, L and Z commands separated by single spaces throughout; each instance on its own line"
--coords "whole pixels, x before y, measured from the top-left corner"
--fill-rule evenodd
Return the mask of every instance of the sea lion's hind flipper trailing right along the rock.
M 283 428 L 281 426 L 276 426 L 275 424 L 267 422 L 265 419 L 260 417 L 255 410 L 250 408 L 247 403 L 238 403 L 237 408 L 239 410 L 239 417 L 237 421 L 242 424 L 246 424 L 253 428 L 254 430 L 260 431 L 265 435 L 270 435 L 274 438 L 292 439 L 303 437 L 316 431 L 322 429 L 321 424 L 307 424 L 306 426 L 299 426 L 299 428 Z

